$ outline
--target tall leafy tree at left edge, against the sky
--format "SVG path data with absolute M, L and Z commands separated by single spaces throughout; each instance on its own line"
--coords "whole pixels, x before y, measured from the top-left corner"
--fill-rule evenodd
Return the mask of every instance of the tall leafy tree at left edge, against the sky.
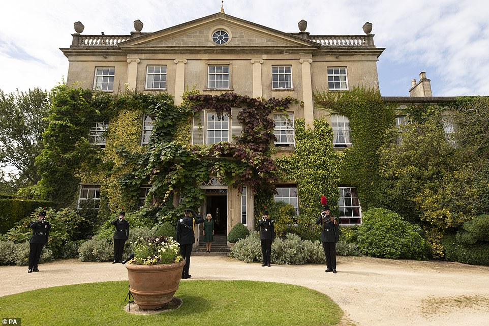
M 34 163 L 41 154 L 49 107 L 49 93 L 40 88 L 10 94 L 0 90 L 0 168 L 13 170 L 0 175 L 0 183 L 19 189 L 40 180 Z

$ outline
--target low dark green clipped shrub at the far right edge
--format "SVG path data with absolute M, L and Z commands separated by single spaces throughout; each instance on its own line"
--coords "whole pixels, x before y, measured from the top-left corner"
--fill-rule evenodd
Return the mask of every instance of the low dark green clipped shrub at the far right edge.
M 489 266 L 489 243 L 463 246 L 457 242 L 455 234 L 447 234 L 442 239 L 442 245 L 447 260 Z

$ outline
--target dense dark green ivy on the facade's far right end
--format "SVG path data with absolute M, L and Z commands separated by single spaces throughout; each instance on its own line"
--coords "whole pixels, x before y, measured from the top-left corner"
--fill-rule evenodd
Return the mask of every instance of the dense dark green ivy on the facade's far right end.
M 376 90 L 354 88 L 348 92 L 314 94 L 316 106 L 350 120 L 352 146 L 344 150 L 341 183 L 355 186 L 362 209 L 385 206 L 383 180 L 378 172 L 379 147 L 394 122 L 394 106 L 384 105 Z

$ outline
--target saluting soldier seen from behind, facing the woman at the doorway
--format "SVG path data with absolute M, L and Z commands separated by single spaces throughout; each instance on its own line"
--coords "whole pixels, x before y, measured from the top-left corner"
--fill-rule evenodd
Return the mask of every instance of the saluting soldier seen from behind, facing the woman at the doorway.
M 192 213 L 193 217 L 190 216 Z M 189 274 L 190 255 L 192 254 L 192 246 L 195 243 L 195 224 L 204 223 L 204 219 L 190 209 L 184 210 L 184 217 L 176 223 L 176 241 L 180 244 L 180 254 L 185 259 L 184 270 L 181 272 L 182 279 L 189 279 L 192 275 Z

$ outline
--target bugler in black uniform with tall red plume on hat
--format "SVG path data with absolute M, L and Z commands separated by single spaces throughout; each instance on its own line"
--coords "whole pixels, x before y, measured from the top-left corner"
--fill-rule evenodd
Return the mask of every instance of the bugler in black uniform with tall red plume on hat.
M 337 220 L 329 213 L 329 206 L 325 204 L 316 224 L 321 223 L 321 241 L 323 242 L 327 266 L 325 272 L 336 274 L 336 243 L 340 240 L 340 228 Z

